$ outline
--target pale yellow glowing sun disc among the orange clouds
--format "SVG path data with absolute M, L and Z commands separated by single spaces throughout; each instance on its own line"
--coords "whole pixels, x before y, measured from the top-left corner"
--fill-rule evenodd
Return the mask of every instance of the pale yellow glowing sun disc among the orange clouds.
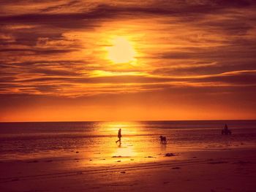
M 130 63 L 135 60 L 135 50 L 124 37 L 113 39 L 113 45 L 107 49 L 108 58 L 115 64 Z

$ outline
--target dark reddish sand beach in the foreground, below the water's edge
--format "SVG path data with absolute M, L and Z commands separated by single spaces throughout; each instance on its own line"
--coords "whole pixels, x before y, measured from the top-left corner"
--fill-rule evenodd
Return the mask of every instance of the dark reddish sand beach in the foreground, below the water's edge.
M 179 153 L 145 163 L 83 158 L 1 161 L 1 191 L 255 191 L 256 150 Z M 102 160 L 105 161 L 105 160 Z

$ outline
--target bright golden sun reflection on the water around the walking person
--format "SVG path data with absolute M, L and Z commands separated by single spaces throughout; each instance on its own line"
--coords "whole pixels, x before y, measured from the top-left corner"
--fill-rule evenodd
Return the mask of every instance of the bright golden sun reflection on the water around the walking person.
M 121 145 L 118 140 L 118 129 L 121 128 Z M 140 145 L 135 140 L 141 134 L 139 122 L 100 122 L 94 126 L 94 135 L 100 135 L 91 145 L 91 153 L 86 153 L 91 164 L 115 164 L 115 162 L 133 161 L 138 156 Z

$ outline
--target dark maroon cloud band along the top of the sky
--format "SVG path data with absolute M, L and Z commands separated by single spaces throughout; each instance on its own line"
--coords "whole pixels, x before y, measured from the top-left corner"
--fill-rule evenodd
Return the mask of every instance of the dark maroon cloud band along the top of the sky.
M 49 1 L 46 2 L 49 3 Z M 120 17 L 120 15 L 159 15 L 178 17 L 189 15 L 190 13 L 199 15 L 214 13 L 217 10 L 237 7 L 243 8 L 254 4 L 254 1 L 151 1 L 151 3 L 137 6 L 138 2 L 137 4 L 121 4 L 117 2 L 114 2 L 113 4 L 104 4 L 102 2 L 95 6 L 89 6 L 89 4 L 86 3 L 81 4 L 80 1 L 67 1 L 67 3 L 57 4 L 53 7 L 48 7 L 46 4 L 45 9 L 41 9 L 41 12 L 21 15 L 2 15 L 0 20 L 3 23 L 40 23 L 55 26 L 61 25 L 68 28 L 69 26 L 72 26 L 72 20 L 75 20 L 78 23 L 80 20 L 83 20 L 85 23 L 90 23 L 91 20 L 109 19 Z M 31 4 L 31 2 L 27 3 Z M 64 7 L 70 8 L 70 6 L 72 7 L 74 5 L 79 5 L 79 7 L 76 7 L 77 12 L 61 12 L 61 9 L 64 9 Z M 86 9 L 86 7 L 90 7 L 90 9 Z M 59 10 L 60 13 L 49 12 L 53 9 Z M 64 23 L 66 23 L 66 25 L 64 25 Z

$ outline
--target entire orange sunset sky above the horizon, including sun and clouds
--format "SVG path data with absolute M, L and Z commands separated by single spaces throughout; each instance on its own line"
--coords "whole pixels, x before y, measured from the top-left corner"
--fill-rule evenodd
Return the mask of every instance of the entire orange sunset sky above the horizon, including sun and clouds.
M 256 1 L 0 1 L 0 121 L 256 119 Z

